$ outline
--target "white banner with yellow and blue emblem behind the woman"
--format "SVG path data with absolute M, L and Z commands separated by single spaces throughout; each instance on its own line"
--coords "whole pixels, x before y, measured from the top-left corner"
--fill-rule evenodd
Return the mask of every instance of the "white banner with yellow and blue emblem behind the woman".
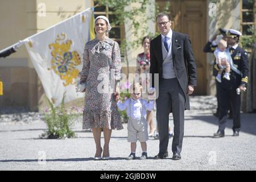
M 53 105 L 84 97 L 76 93 L 85 43 L 94 39 L 93 10 L 86 9 L 28 38 L 26 48 Z

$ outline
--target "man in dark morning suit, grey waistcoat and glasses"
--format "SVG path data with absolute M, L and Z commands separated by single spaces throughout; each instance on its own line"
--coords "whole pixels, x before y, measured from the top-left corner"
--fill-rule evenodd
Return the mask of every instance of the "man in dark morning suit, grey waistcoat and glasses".
M 159 13 L 156 23 L 160 35 L 150 43 L 150 73 L 159 74 L 159 93 L 156 99 L 156 120 L 159 130 L 159 153 L 155 159 L 168 156 L 168 123 L 170 111 L 174 117 L 172 159 L 181 159 L 184 135 L 184 110 L 189 110 L 188 95 L 196 86 L 196 63 L 188 35 L 171 30 L 167 13 Z

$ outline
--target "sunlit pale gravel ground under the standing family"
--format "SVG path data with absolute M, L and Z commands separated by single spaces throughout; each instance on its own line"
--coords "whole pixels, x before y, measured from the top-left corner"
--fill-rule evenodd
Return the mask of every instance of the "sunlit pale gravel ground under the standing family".
M 126 140 L 127 125 L 113 131 L 110 140 L 110 160 L 94 161 L 95 146 L 91 132 L 82 131 L 77 122 L 73 128 L 78 138 L 39 139 L 46 124 L 33 115 L 30 119 L 10 121 L 0 118 L 0 170 L 256 170 L 256 113 L 241 114 L 240 137 L 232 137 L 229 120 L 224 138 L 213 138 L 217 131 L 217 118 L 213 117 L 216 99 L 211 96 L 191 97 L 191 111 L 185 111 L 185 134 L 182 159 L 154 160 L 159 141 L 147 142 L 147 160 L 127 161 L 130 144 Z M 12 116 L 9 115 L 9 118 Z M 173 126 L 172 117 L 170 125 Z M 171 153 L 171 142 L 168 151 Z M 102 138 L 102 143 L 104 139 Z M 137 143 L 137 156 L 141 146 Z M 172 155 L 172 154 L 169 154 Z M 46 157 L 46 162 L 43 159 Z

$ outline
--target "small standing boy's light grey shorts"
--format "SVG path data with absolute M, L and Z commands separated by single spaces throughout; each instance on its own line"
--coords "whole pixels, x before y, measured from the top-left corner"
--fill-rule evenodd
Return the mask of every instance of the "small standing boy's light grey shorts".
M 129 118 L 127 124 L 128 130 L 128 142 L 146 142 L 148 140 L 148 133 L 147 133 L 147 121 L 145 118 L 141 119 L 133 119 Z

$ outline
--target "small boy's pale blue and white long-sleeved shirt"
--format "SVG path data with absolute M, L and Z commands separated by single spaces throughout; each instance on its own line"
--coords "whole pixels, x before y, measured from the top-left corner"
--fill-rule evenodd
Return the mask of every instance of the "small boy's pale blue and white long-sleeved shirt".
M 131 109 L 128 108 L 129 102 L 131 102 Z M 129 118 L 141 119 L 142 116 L 146 116 L 146 110 L 150 111 L 154 108 L 154 101 L 147 102 L 142 98 L 139 98 L 138 100 L 133 100 L 133 98 L 129 98 L 123 103 L 121 101 L 118 101 L 117 106 L 119 110 L 127 110 L 127 116 Z

